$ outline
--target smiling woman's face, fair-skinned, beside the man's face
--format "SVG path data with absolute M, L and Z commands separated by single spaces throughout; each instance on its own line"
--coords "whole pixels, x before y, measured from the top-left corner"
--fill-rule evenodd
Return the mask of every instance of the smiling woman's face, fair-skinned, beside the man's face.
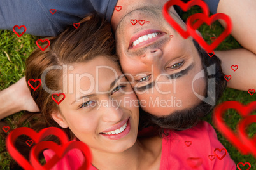
M 117 64 L 99 56 L 68 68 L 66 98 L 53 119 L 92 151 L 122 152 L 134 145 L 138 101 Z

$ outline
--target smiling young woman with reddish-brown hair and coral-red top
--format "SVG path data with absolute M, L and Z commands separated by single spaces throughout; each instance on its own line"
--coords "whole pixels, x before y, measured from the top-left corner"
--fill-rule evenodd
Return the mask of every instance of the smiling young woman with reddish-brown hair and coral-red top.
M 137 138 L 138 102 L 118 65 L 110 25 L 99 16 L 87 16 L 80 24 L 50 38 L 45 51 L 36 49 L 27 59 L 26 81 L 43 82 L 36 91 L 31 89 L 41 110 L 30 117 L 38 118 L 31 127 L 56 126 L 70 140 L 86 143 L 93 156 L 90 170 L 236 169 L 229 154 L 222 160 L 215 156 L 222 157 L 215 149 L 224 147 L 206 122 L 185 131 L 164 129 L 162 138 Z M 57 105 L 52 93 L 60 92 L 66 98 Z M 46 161 L 53 154 L 46 150 Z M 77 169 L 82 161 L 83 155 L 75 150 L 53 169 Z

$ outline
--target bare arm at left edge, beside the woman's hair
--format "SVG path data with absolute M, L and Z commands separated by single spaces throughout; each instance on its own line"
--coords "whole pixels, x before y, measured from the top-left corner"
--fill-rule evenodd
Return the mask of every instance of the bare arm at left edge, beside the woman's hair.
M 0 103 L 0 119 L 21 110 L 39 112 L 39 108 L 27 88 L 25 77 L 9 88 L 0 91 Z

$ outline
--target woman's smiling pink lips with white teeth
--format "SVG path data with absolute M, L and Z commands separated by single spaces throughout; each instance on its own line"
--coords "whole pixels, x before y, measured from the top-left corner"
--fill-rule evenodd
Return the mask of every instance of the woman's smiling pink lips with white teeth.
M 106 129 L 106 131 L 100 134 L 111 140 L 118 140 L 126 136 L 126 134 L 129 133 L 130 129 L 131 129 L 131 124 L 128 118 L 120 122 L 116 126 Z

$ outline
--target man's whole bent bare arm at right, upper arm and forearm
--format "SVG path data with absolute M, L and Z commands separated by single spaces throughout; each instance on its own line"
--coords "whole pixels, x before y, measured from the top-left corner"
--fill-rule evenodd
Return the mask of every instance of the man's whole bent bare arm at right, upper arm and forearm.
M 256 65 L 255 9 L 256 1 L 220 0 L 218 4 L 217 13 L 225 13 L 231 17 L 233 24 L 231 34 L 245 48 L 215 51 L 222 60 L 224 74 L 232 76 L 231 81 L 227 83 L 229 88 L 243 91 L 256 88 L 256 74 L 253 71 Z M 219 21 L 225 27 L 225 22 Z M 234 72 L 231 65 L 238 65 L 238 70 Z

